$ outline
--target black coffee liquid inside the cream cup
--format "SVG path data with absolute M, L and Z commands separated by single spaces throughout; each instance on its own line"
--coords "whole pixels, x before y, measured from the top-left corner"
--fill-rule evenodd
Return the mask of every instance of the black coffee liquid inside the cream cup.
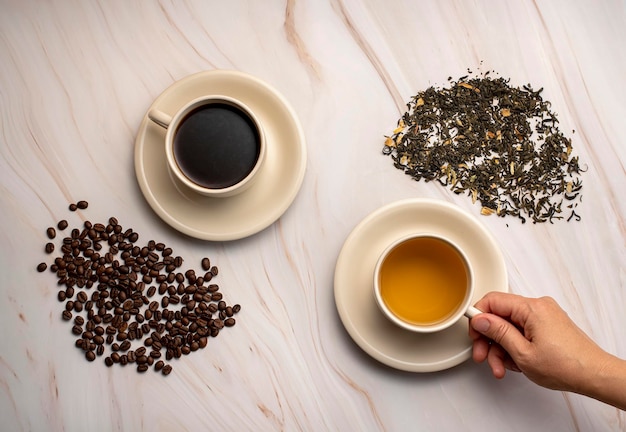
M 191 111 L 174 137 L 174 156 L 181 171 L 194 183 L 212 189 L 243 180 L 259 153 L 259 132 L 252 120 L 223 103 Z

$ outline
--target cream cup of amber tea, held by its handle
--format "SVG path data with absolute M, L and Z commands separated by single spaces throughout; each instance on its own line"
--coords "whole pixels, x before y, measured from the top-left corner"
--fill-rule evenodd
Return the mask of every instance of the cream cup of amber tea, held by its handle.
M 438 234 L 416 233 L 392 242 L 374 269 L 374 296 L 394 324 L 419 333 L 442 331 L 472 306 L 472 267 L 463 250 Z

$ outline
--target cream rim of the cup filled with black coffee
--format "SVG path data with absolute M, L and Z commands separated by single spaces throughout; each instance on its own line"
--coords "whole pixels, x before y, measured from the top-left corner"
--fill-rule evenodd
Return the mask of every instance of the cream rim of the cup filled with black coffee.
M 254 124 L 258 136 L 259 136 L 259 156 L 256 159 L 254 167 L 252 170 L 239 182 L 234 185 L 225 187 L 225 188 L 208 188 L 202 185 L 199 185 L 192 180 L 190 180 L 180 169 L 178 163 L 176 162 L 176 158 L 174 156 L 174 136 L 177 132 L 178 127 L 182 123 L 182 120 L 187 116 L 190 112 L 205 105 L 211 105 L 214 103 L 222 103 L 227 104 L 232 107 L 237 108 L 241 112 L 243 112 Z M 156 123 L 163 126 L 154 118 L 152 119 Z M 193 99 L 192 101 L 185 104 L 182 108 L 178 109 L 178 111 L 171 117 L 169 124 L 167 126 L 167 132 L 165 134 L 165 145 L 166 145 L 166 158 L 167 164 L 170 171 L 174 174 L 177 180 L 179 180 L 182 184 L 184 184 L 187 188 L 191 189 L 194 192 L 197 192 L 201 195 L 211 196 L 211 197 L 229 197 L 241 193 L 247 190 L 250 186 L 252 186 L 254 180 L 257 177 L 257 174 L 261 170 L 261 167 L 265 161 L 266 154 L 266 138 L 265 131 L 261 125 L 256 114 L 242 101 L 235 99 L 230 96 L 219 95 L 219 94 L 211 94 L 198 97 Z

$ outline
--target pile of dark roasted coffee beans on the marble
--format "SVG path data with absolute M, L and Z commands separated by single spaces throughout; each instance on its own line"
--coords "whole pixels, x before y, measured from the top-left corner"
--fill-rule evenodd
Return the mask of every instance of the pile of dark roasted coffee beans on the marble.
M 69 209 L 87 207 L 78 201 Z M 56 249 L 57 230 L 68 227 L 61 220 L 46 230 L 46 253 Z M 202 259 L 202 272 L 183 272 L 183 259 L 171 248 L 154 240 L 140 246 L 138 240 L 115 217 L 106 224 L 85 221 L 61 240 L 61 253 L 49 268 L 64 304 L 61 317 L 73 324 L 75 345 L 88 361 L 106 354 L 107 366 L 133 364 L 138 372 L 154 366 L 169 375 L 166 362 L 206 347 L 210 337 L 235 325 L 241 306 L 226 304 L 211 283 L 218 268 L 209 258 Z M 37 266 L 39 272 L 47 269 L 46 262 Z

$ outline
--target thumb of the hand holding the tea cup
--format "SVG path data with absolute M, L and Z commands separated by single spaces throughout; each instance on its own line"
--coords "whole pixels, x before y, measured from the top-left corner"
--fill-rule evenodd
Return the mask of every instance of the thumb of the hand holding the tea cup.
M 529 348 L 530 342 L 517 327 L 497 315 L 489 313 L 476 315 L 470 321 L 470 325 L 478 333 L 502 346 L 513 359 Z

